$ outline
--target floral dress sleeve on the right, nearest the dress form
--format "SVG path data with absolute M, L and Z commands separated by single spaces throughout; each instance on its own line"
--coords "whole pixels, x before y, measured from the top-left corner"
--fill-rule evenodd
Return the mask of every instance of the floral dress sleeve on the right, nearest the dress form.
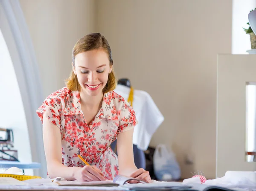
M 131 130 L 138 124 L 135 112 L 130 104 L 126 103 L 120 110 L 119 127 L 117 133 L 122 133 Z

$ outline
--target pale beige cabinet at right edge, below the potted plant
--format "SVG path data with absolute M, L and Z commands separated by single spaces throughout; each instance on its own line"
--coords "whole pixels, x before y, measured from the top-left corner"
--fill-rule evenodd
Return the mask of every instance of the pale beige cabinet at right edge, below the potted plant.
M 217 72 L 216 177 L 256 171 L 256 55 L 218 55 Z

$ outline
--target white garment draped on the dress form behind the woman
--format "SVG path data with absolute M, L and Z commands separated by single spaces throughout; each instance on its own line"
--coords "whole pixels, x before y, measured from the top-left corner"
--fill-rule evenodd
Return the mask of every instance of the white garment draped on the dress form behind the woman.
M 127 100 L 130 88 L 118 84 L 114 92 Z M 151 96 L 142 90 L 134 90 L 132 107 L 139 122 L 134 128 L 133 144 L 140 150 L 147 150 L 152 135 L 163 122 L 164 117 Z

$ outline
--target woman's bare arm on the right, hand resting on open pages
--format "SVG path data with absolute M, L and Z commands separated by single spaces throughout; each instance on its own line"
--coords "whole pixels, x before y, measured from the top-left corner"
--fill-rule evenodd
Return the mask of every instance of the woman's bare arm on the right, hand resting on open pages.
M 134 164 L 133 137 L 134 128 L 117 135 L 117 153 L 119 174 L 151 182 L 149 172 L 143 168 L 138 169 Z

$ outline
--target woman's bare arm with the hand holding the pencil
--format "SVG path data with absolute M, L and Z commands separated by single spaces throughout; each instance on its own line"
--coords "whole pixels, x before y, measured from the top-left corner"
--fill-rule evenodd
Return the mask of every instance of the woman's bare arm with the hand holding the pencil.
M 62 164 L 60 129 L 43 116 L 44 150 L 47 171 L 51 178 L 63 177 L 66 180 L 99 181 L 105 180 L 96 166 L 67 167 Z

